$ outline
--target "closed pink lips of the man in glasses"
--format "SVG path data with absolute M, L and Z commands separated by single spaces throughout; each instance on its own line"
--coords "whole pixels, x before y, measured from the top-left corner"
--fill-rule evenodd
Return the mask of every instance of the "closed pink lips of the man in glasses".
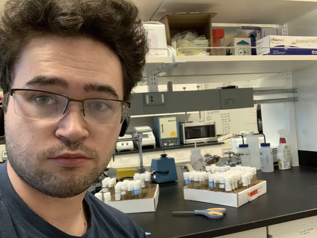
M 80 154 L 80 153 L 65 153 L 61 155 L 57 155 L 53 158 L 49 158 L 53 160 L 54 162 L 66 166 L 66 167 L 75 167 L 79 166 L 85 162 L 88 162 L 91 160 L 87 155 Z

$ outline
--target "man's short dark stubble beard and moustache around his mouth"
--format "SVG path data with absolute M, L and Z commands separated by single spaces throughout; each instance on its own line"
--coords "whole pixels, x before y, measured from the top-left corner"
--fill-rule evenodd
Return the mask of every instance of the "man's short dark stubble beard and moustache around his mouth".
M 100 157 L 96 149 L 81 142 L 68 141 L 42 149 L 36 155 L 30 155 L 26 148 L 28 147 L 18 144 L 14 138 L 6 135 L 8 160 L 15 173 L 36 190 L 57 198 L 73 197 L 86 191 L 106 169 L 113 152 L 109 149 L 104 157 Z M 41 168 L 48 158 L 65 150 L 81 151 L 93 158 L 93 169 L 86 174 L 78 174 L 75 172 L 76 168 L 63 167 L 61 173 L 55 174 Z M 99 161 L 103 161 L 101 165 Z

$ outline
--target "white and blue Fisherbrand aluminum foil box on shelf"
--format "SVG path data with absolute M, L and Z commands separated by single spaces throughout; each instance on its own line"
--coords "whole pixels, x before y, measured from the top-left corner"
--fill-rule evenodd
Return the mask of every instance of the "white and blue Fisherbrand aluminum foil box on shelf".
M 257 55 L 317 55 L 317 36 L 266 36 L 256 41 Z M 273 49 L 273 47 L 291 47 L 291 49 Z M 310 49 L 301 49 L 310 48 Z M 315 48 L 315 49 L 314 49 Z

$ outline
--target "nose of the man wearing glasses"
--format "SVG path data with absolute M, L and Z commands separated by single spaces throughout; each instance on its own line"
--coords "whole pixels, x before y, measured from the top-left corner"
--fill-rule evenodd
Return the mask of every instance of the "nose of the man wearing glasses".
M 88 136 L 88 123 L 84 119 L 81 103 L 69 103 L 65 114 L 58 120 L 56 137 L 68 141 L 81 141 Z

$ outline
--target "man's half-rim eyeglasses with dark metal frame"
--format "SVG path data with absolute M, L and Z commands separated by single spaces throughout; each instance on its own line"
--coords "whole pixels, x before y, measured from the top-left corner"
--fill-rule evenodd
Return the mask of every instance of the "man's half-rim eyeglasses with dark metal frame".
M 17 115 L 35 120 L 54 121 L 65 114 L 69 102 L 81 102 L 88 123 L 119 125 L 124 121 L 130 102 L 108 98 L 76 100 L 67 96 L 33 89 L 11 89 Z

